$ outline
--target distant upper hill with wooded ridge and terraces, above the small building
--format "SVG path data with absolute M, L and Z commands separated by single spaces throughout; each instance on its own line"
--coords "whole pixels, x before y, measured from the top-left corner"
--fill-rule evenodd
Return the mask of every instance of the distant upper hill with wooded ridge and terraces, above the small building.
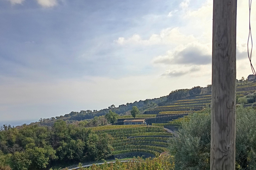
M 256 90 L 256 77 L 249 75 L 248 78 L 237 80 L 237 95 L 239 97 L 254 93 Z M 142 114 L 177 114 L 190 113 L 199 111 L 206 105 L 211 103 L 211 85 L 207 87 L 196 86 L 191 89 L 178 89 L 172 91 L 169 95 L 160 98 L 146 99 L 135 101 L 133 103 L 126 103 L 115 107 L 109 106 L 102 110 L 81 110 L 80 112 L 70 112 L 64 116 L 57 116 L 47 119 L 40 119 L 38 124 L 42 126 L 52 126 L 56 120 L 64 120 L 67 123 L 74 123 L 76 121 L 90 120 L 95 116 L 104 116 L 109 110 L 119 114 L 120 116 L 129 115 L 129 111 L 133 106 L 138 107 Z M 143 118 L 143 116 L 140 116 Z M 146 116 L 145 116 L 146 117 Z

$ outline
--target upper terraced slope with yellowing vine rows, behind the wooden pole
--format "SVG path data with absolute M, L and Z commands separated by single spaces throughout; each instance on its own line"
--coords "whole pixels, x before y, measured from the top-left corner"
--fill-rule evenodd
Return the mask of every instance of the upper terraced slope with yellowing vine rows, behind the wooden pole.
M 211 86 L 197 89 L 197 93 L 190 93 L 192 89 L 181 89 L 173 91 L 167 96 L 167 101 L 158 103 L 157 107 L 147 109 L 144 114 L 175 114 L 193 113 L 202 110 L 211 104 Z M 201 90 L 201 91 L 200 91 Z M 256 91 L 256 82 L 237 83 L 237 99 Z M 184 95 L 185 94 L 185 95 Z M 239 103 L 239 101 L 237 101 Z

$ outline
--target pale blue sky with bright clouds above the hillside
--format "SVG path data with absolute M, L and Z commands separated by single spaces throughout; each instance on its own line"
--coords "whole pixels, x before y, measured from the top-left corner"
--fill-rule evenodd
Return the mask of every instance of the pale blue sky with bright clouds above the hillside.
M 211 84 L 212 4 L 0 0 L 0 125 L 29 124 L 206 87 Z M 249 7 L 245 0 L 237 4 L 241 79 L 252 74 Z M 255 2 L 251 29 L 254 38 Z M 256 65 L 255 48 L 252 63 Z

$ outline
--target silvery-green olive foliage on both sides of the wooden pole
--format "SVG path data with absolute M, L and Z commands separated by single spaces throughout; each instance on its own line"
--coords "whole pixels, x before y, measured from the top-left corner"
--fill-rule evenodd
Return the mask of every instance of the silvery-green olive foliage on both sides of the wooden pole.
M 211 110 L 194 113 L 182 122 L 176 137 L 170 138 L 169 150 L 174 155 L 175 169 L 210 169 Z M 256 111 L 236 110 L 236 170 L 256 169 Z

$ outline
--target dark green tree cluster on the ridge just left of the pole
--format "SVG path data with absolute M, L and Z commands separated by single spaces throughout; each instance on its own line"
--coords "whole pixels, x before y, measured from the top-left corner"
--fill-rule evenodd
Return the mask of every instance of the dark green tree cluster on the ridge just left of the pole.
M 211 86 L 209 86 L 211 88 Z M 171 93 L 167 96 L 168 100 L 178 100 L 183 99 L 190 96 L 197 96 L 201 93 L 203 88 L 200 86 L 193 87 L 191 89 L 179 89 L 171 91 Z

